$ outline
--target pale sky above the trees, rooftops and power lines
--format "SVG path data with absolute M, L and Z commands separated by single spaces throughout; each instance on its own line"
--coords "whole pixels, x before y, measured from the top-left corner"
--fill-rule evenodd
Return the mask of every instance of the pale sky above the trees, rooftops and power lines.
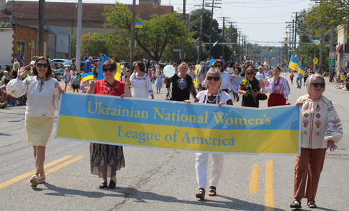
M 46 2 L 49 1 L 52 0 L 46 0 Z M 77 2 L 77 0 L 61 1 Z M 201 8 L 202 1 L 186 0 L 186 13 Z M 133 0 L 119 0 L 119 3 L 132 4 L 132 2 Z M 212 1 L 205 0 L 205 2 Z M 216 6 L 221 7 L 214 8 L 214 18 L 218 20 L 220 27 L 223 26 L 223 20 L 218 17 L 226 17 L 226 21 L 230 17 L 231 22 L 237 22 L 233 25 L 247 36 L 247 42 L 262 46 L 281 46 L 282 43 L 279 42 L 283 42 L 288 31 L 285 22 L 292 22 L 295 17 L 293 13 L 307 9 L 314 3 L 311 0 L 215 0 L 214 2 L 220 3 Z M 115 1 L 82 0 L 82 3 L 115 3 Z M 175 11 L 179 11 L 183 8 L 183 0 L 161 0 L 161 5 L 170 5 Z

